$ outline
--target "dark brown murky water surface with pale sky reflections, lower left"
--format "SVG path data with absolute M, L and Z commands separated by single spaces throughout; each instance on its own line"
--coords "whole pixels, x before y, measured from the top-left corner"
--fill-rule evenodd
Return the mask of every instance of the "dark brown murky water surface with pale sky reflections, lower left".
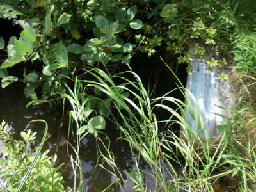
M 42 106 L 30 106 L 26 108 L 26 104 L 29 102 L 23 94 L 23 88 L 18 85 L 13 85 L 5 89 L 0 90 L 0 121 L 5 120 L 10 129 L 15 133 L 15 138 L 20 138 L 20 132 L 26 127 L 31 129 L 33 132 L 37 132 L 37 141 L 31 146 L 35 148 L 40 143 L 40 138 L 42 138 L 45 130 L 45 125 L 41 122 L 34 122 L 29 124 L 29 121 L 36 119 L 43 119 L 49 125 L 49 132 L 47 136 L 50 136 L 52 132 L 58 130 L 60 127 L 60 120 L 62 115 L 62 109 L 50 109 L 47 105 Z M 68 113 L 68 112 L 67 112 Z M 57 132 L 44 144 L 43 150 L 50 149 L 51 154 L 57 154 L 58 161 L 57 164 L 65 163 L 61 169 L 61 173 L 65 179 L 65 186 L 74 186 L 74 172 L 72 169 L 72 164 L 70 163 L 70 155 L 72 154 L 72 148 L 68 148 L 69 155 L 67 154 L 67 145 L 59 146 L 60 141 L 65 141 L 65 135 L 67 135 L 68 119 L 64 120 L 66 123 L 61 131 Z M 102 144 L 97 142 L 95 137 L 88 134 L 86 138 L 82 141 L 80 148 L 80 159 L 83 168 L 83 181 L 85 189 L 84 191 L 102 191 L 106 187 L 114 183 L 108 191 L 133 191 L 131 180 L 127 180 L 126 171 L 132 168 L 134 165 L 131 161 L 131 154 L 129 147 L 125 143 L 116 140 L 119 133 L 116 131 L 114 125 L 108 123 L 106 135 L 109 136 L 111 140 L 111 151 L 115 156 L 115 162 L 118 168 L 118 172 L 125 179 L 125 184 L 122 188 L 116 183 L 115 177 L 108 173 L 104 169 L 100 169 L 97 164 L 97 148 Z M 106 143 L 108 139 L 106 136 L 101 135 L 102 141 Z M 65 143 L 65 142 L 64 142 Z M 76 144 L 70 140 L 70 143 L 75 146 Z M 104 150 L 103 150 L 104 151 Z M 75 154 L 72 154 L 75 158 Z M 102 163 L 102 161 L 99 161 Z M 106 163 L 104 163 L 106 166 Z M 106 166 L 108 168 L 108 166 Z M 79 175 L 77 174 L 77 179 Z

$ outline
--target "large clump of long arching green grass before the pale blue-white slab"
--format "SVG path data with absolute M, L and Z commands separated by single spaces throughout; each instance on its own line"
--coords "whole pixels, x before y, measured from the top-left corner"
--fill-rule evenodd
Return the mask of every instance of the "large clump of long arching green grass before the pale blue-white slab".
M 86 75 L 94 80 L 77 80 L 77 83 L 84 84 L 84 88 L 96 88 L 103 92 L 112 99 L 112 105 L 118 111 L 118 118 L 113 114 L 106 118 L 113 120 L 122 132 L 119 139 L 129 143 L 136 166 L 128 175 L 136 191 L 214 191 L 218 180 L 223 178 L 242 180 L 234 188 L 248 190 L 249 183 L 255 182 L 255 148 L 248 149 L 250 157 L 242 157 L 231 145 L 239 145 L 232 137 L 236 121 L 227 118 L 218 142 L 211 142 L 209 138 L 203 142 L 197 132 L 189 127 L 186 110 L 198 129 L 205 129 L 204 119 L 200 116 L 195 97 L 181 83 L 177 89 L 182 92 L 186 102 L 168 96 L 174 90 L 163 97 L 151 99 L 140 77 L 132 70 L 109 77 L 104 71 L 93 68 L 86 71 Z M 132 76 L 135 80 L 125 76 Z M 116 81 L 122 81 L 122 84 L 115 84 Z M 173 104 L 176 108 L 170 107 Z M 156 108 L 169 112 L 170 115 L 166 120 L 161 120 L 161 124 L 170 127 L 178 124 L 179 134 L 171 129 L 160 131 L 160 121 L 154 114 Z M 109 150 L 109 147 L 106 149 Z M 108 154 L 102 157 L 115 170 L 115 160 L 110 152 Z M 147 170 L 140 167 L 141 162 L 147 163 Z M 249 168 L 252 168 L 252 172 L 248 173 Z M 115 171 L 111 173 L 120 177 Z M 122 178 L 117 180 L 122 182 Z

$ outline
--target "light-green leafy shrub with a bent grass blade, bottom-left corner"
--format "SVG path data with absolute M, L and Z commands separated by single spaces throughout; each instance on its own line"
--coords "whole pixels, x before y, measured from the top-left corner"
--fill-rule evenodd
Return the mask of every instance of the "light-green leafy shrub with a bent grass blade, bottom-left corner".
M 54 167 L 57 156 L 53 159 L 47 156 L 49 150 L 40 154 L 46 133 L 47 124 L 44 138 L 34 156 L 31 154 L 30 145 L 36 139 L 36 132 L 21 132 L 24 141 L 15 140 L 8 131 L 8 125 L 4 121 L 1 123 L 1 191 L 63 191 L 63 177 L 59 173 L 62 164 Z

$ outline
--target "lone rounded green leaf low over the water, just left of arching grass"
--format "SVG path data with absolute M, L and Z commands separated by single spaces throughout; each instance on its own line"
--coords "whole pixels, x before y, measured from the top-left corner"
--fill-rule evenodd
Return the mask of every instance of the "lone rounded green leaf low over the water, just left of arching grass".
M 97 131 L 100 129 L 105 129 L 106 121 L 103 116 L 95 116 L 91 118 L 88 122 L 88 131 L 96 137 L 98 135 Z

